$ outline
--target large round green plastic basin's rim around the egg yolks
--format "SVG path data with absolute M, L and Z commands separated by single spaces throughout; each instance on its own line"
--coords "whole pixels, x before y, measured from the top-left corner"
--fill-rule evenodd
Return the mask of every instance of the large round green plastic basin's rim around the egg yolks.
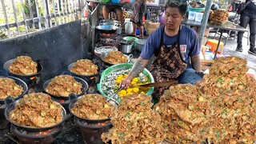
M 104 70 L 102 72 L 102 76 L 101 76 L 101 79 L 100 79 L 100 82 L 97 84 L 97 88 L 98 88 L 98 91 L 104 96 L 106 97 L 106 94 L 103 93 L 102 91 L 102 85 L 101 83 L 104 81 L 104 77 L 105 75 L 107 74 L 111 74 L 113 73 L 114 71 L 118 71 L 118 70 L 123 70 L 123 69 L 128 69 L 128 68 L 131 68 L 133 66 L 132 63 L 121 63 L 121 64 L 118 64 L 118 65 L 114 65 L 114 66 L 110 66 L 108 67 L 106 70 Z M 146 76 L 148 78 L 150 78 L 150 82 L 154 82 L 154 77 L 153 75 L 150 73 L 149 70 L 146 70 L 144 68 L 144 70 L 142 71 L 143 74 L 146 74 Z M 154 87 L 150 87 L 150 89 L 146 92 L 146 95 L 151 95 L 153 94 L 153 91 L 154 91 Z M 118 102 L 119 103 L 119 102 Z

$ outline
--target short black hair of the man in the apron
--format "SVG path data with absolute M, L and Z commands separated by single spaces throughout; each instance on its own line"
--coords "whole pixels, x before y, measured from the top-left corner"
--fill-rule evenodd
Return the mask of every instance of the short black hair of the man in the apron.
M 186 14 L 187 3 L 186 0 L 167 0 L 166 8 L 168 7 L 178 7 L 178 10 L 182 15 Z

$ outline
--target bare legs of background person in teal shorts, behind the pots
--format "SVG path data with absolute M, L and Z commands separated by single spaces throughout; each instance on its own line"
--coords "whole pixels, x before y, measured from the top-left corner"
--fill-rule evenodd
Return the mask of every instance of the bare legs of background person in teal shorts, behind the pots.
M 117 15 L 117 19 L 119 22 L 123 23 L 123 13 L 122 13 L 122 7 L 121 6 L 102 6 L 102 14 L 104 19 L 110 19 L 109 14 L 110 12 L 114 12 Z

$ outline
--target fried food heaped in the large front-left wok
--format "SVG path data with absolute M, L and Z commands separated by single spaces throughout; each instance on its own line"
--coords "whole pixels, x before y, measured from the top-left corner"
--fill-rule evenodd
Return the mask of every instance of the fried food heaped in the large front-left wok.
M 10 111 L 10 120 L 20 126 L 49 127 L 62 122 L 62 106 L 50 95 L 43 93 L 26 94 Z

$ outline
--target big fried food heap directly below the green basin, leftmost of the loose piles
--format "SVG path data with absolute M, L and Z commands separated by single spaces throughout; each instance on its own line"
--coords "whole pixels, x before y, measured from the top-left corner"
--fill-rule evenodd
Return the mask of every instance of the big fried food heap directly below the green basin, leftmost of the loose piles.
M 103 142 L 156 143 L 166 138 L 160 115 L 151 107 L 151 97 L 132 94 L 122 99 L 111 118 L 113 127 L 102 134 Z

